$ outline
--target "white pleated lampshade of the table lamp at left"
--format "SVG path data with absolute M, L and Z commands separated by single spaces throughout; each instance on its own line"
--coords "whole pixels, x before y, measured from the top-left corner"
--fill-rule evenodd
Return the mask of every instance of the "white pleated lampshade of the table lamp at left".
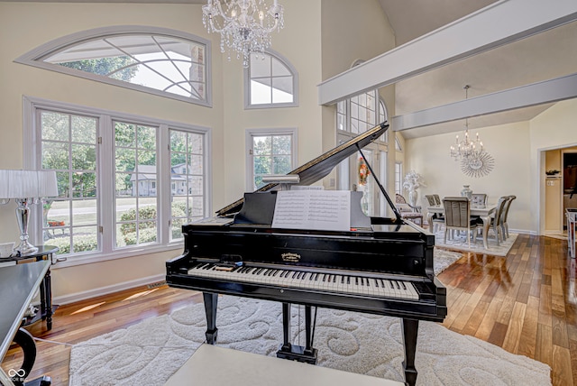
M 0 170 L 0 198 L 58 197 L 54 170 Z

